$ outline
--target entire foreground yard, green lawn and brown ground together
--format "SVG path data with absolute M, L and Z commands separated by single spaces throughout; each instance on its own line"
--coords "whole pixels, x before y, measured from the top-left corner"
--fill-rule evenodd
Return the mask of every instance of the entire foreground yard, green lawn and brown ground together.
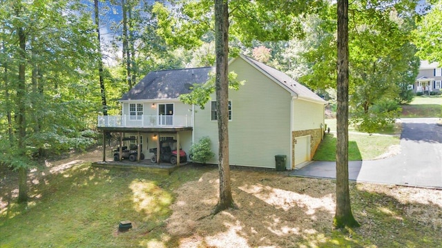
M 85 158 L 89 157 L 88 154 Z M 333 229 L 334 180 L 233 169 L 237 209 L 208 216 L 218 169 L 186 165 L 171 176 L 64 161 L 30 175 L 17 205 L 17 173 L 0 169 L 0 247 L 438 247 L 442 191 L 350 183 L 356 229 Z M 247 176 L 244 176 L 247 175 Z M 121 220 L 133 229 L 121 233 Z

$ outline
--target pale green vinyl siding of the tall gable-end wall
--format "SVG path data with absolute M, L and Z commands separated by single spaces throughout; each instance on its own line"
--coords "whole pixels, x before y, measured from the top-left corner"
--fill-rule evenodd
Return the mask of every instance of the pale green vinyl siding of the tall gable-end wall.
M 240 90 L 229 90 L 233 121 L 229 122 L 229 163 L 231 165 L 275 168 L 275 155 L 287 155 L 290 168 L 290 103 L 287 90 L 242 59 L 229 70 L 238 80 L 247 79 Z M 215 94 L 211 96 L 215 100 Z M 195 142 L 209 136 L 218 163 L 218 123 L 210 121 L 211 103 L 195 113 Z

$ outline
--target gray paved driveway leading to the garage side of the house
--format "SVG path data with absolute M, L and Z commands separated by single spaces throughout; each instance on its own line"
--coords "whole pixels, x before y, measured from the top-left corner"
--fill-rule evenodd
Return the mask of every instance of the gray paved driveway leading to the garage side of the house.
M 403 118 L 401 153 L 375 161 L 350 161 L 349 180 L 442 189 L 439 118 Z M 336 178 L 336 162 L 313 161 L 291 176 Z

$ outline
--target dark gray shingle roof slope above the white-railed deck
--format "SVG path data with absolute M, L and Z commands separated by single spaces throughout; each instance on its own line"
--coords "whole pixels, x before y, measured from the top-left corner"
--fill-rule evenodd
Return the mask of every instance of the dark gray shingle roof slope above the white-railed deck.
M 214 67 L 205 67 L 149 72 L 120 100 L 177 99 L 189 93 L 187 84 L 206 83 L 209 72 L 214 71 Z

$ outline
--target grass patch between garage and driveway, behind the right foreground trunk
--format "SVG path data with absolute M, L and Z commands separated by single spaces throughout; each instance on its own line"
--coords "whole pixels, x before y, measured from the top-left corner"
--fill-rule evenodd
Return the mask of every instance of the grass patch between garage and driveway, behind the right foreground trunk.
M 349 134 L 349 161 L 372 160 L 396 154 L 399 148 L 397 136 Z M 336 161 L 336 134 L 326 134 L 313 158 L 315 161 Z

